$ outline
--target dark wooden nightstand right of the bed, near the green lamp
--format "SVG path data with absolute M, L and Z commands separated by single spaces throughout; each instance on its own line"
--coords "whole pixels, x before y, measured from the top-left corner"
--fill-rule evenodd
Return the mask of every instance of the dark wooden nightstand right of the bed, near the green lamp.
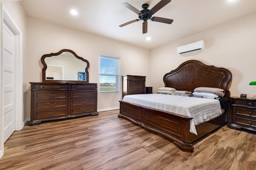
M 230 98 L 228 127 L 256 131 L 256 99 Z

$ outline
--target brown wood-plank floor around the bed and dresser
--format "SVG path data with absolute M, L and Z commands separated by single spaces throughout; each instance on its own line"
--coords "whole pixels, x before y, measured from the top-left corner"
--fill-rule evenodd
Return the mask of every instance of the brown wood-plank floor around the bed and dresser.
M 182 152 L 118 111 L 15 131 L 1 170 L 255 170 L 256 135 L 224 126 Z

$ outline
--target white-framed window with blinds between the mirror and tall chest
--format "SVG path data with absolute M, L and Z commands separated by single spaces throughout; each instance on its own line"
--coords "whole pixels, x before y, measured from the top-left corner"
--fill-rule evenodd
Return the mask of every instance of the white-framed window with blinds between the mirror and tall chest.
M 100 93 L 118 92 L 120 84 L 120 58 L 100 55 Z

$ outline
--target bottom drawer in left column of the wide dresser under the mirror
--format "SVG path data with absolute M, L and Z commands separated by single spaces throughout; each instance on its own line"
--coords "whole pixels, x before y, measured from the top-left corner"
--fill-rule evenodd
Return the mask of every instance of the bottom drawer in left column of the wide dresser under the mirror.
M 48 111 L 36 111 L 35 119 L 51 119 L 52 117 L 66 116 L 67 110 L 64 109 L 56 109 L 56 110 L 48 110 Z

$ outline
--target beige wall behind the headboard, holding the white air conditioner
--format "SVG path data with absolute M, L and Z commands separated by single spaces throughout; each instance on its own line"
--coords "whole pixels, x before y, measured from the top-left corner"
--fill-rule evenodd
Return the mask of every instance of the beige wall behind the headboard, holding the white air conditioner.
M 196 55 L 183 57 L 177 54 L 177 47 L 205 41 L 205 49 Z M 256 13 L 214 27 L 196 35 L 168 43 L 151 50 L 150 74 L 148 86 L 157 92 L 164 86 L 163 76 L 177 68 L 184 61 L 196 59 L 208 65 L 228 68 L 232 72 L 231 96 L 256 95 L 256 86 L 249 86 L 256 81 Z

